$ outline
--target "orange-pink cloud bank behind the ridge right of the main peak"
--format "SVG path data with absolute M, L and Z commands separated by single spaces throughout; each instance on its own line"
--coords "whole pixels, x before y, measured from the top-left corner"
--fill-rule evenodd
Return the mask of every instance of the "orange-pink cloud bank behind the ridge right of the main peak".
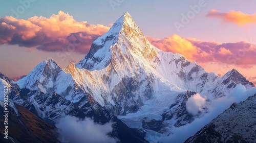
M 238 65 L 243 68 L 256 64 L 256 45 L 244 41 L 237 43 L 217 43 L 182 38 L 173 35 L 164 39 L 147 39 L 159 49 L 166 52 L 180 53 L 190 61 L 218 62 Z

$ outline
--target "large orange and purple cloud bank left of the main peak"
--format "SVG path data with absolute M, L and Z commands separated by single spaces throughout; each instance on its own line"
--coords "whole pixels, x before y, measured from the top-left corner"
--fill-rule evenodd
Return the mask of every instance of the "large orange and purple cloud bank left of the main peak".
M 66 51 L 77 40 L 75 51 L 87 53 L 92 42 L 109 27 L 91 25 L 87 21 L 76 21 L 68 13 L 59 11 L 50 18 L 33 16 L 16 19 L 12 16 L 0 18 L 0 44 L 18 44 L 37 47 L 45 51 Z

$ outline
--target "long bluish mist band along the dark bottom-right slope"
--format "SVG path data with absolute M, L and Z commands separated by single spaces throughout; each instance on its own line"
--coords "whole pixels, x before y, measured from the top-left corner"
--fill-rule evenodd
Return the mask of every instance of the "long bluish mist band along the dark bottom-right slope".
M 219 98 L 211 102 L 208 112 L 200 118 L 196 118 L 192 123 L 179 128 L 172 128 L 173 134 L 160 138 L 159 142 L 184 142 L 190 136 L 203 128 L 206 124 L 223 113 L 234 102 L 246 100 L 249 96 L 256 93 L 256 88 L 246 90 L 245 86 L 237 85 L 227 97 Z

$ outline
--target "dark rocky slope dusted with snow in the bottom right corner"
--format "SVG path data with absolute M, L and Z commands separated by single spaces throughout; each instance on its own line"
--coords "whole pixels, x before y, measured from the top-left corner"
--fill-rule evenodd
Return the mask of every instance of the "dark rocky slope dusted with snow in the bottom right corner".
M 256 94 L 233 103 L 185 142 L 254 142 L 256 139 Z

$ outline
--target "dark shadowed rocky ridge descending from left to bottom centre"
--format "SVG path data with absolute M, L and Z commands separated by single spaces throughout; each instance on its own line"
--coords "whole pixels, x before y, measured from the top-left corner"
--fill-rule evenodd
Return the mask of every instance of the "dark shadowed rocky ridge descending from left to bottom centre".
M 79 94 L 79 92 L 76 94 Z M 55 124 L 59 118 L 65 115 L 79 118 L 90 117 L 98 124 L 112 122 L 113 131 L 110 135 L 118 138 L 121 142 L 147 142 L 144 139 L 146 135 L 144 130 L 127 127 L 116 116 L 101 107 L 90 94 L 83 93 L 83 97 L 78 102 L 72 103 L 56 92 L 44 93 L 28 88 L 19 89 L 14 84 L 10 92 L 10 100 L 26 107 L 32 113 L 51 124 Z

